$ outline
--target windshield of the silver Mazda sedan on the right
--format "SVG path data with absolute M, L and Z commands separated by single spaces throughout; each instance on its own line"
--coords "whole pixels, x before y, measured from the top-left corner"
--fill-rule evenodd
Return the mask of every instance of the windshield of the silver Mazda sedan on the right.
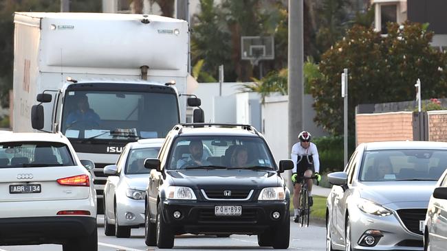
M 446 167 L 447 151 L 444 150 L 367 151 L 360 180 L 438 180 Z

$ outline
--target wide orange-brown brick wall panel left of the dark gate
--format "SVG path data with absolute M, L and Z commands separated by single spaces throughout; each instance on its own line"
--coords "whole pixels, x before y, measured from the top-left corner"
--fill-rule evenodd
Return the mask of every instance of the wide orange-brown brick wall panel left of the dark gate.
M 413 140 L 413 112 L 356 115 L 357 145 L 373 141 Z

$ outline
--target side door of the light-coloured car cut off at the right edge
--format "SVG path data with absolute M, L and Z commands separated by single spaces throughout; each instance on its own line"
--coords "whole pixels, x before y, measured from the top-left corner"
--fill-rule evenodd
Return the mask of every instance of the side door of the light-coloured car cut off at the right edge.
M 441 187 L 447 187 L 447 176 L 444 176 Z M 433 209 L 433 213 L 431 213 L 430 250 L 446 250 L 447 200 L 434 198 Z

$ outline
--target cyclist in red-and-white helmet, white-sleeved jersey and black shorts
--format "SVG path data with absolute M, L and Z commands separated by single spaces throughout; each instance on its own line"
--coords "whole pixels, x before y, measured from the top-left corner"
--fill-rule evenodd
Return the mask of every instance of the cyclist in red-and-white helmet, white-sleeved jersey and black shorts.
M 316 145 L 310 140 L 312 139 L 312 135 L 303 131 L 298 134 L 299 142 L 292 146 L 292 160 L 294 162 L 294 169 L 292 170 L 292 182 L 294 183 L 294 222 L 299 222 L 300 214 L 300 202 L 298 200 L 300 191 L 301 191 L 301 178 L 311 177 L 315 172 L 315 176 L 318 181 L 321 180 L 320 174 L 320 160 L 318 158 L 318 150 L 316 149 Z M 309 206 L 314 204 L 314 200 L 312 199 L 312 180 L 307 180 L 307 189 L 309 193 Z

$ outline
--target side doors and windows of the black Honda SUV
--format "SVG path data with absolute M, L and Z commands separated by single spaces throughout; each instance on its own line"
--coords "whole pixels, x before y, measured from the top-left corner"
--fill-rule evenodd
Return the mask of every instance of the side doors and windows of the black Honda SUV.
M 162 148 L 160 149 L 160 153 L 158 154 L 158 158 L 160 159 L 161 167 L 164 167 L 167 162 L 169 148 L 171 148 L 171 136 L 166 137 L 166 141 L 164 142 Z M 149 184 L 148 184 L 148 200 L 149 200 L 149 213 L 151 214 L 151 218 L 155 219 L 155 215 L 157 215 L 157 198 L 158 193 L 160 191 L 160 186 L 163 184 L 163 177 L 160 171 L 155 169 L 151 170 L 149 174 Z

